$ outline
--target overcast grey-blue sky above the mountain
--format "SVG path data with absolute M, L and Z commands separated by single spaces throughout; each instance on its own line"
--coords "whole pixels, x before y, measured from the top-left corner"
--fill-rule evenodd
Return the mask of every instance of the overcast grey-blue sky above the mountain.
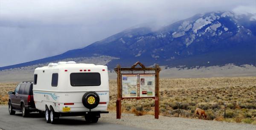
M 82 48 L 134 25 L 194 14 L 256 13 L 256 0 L 0 0 L 0 67 Z

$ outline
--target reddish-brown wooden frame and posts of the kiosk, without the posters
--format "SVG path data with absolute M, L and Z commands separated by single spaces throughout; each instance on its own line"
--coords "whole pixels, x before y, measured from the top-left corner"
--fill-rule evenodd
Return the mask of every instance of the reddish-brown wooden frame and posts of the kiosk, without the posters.
M 140 65 L 141 68 L 135 68 L 137 65 Z M 154 97 L 140 97 L 140 94 L 137 97 L 130 97 L 135 99 L 141 99 L 141 98 L 153 98 L 155 99 L 155 119 L 159 119 L 159 72 L 161 71 L 161 68 L 159 68 L 159 65 L 155 65 L 154 68 L 145 68 L 145 66 L 140 63 L 136 62 L 134 65 L 131 66 L 131 68 L 121 68 L 120 65 L 117 65 L 115 68 L 115 71 L 117 73 L 117 99 L 116 99 L 116 119 L 121 119 L 121 100 L 125 99 L 122 97 L 122 74 L 121 71 L 144 71 L 144 73 L 133 73 L 137 74 L 138 76 L 140 74 L 147 74 L 145 71 L 155 71 L 155 95 Z M 151 73 L 152 74 L 152 73 Z M 140 87 L 140 84 L 139 84 Z

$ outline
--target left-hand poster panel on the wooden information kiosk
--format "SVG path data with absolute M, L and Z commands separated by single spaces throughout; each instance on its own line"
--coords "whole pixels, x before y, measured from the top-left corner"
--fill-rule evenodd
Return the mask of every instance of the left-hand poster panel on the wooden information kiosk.
M 122 98 L 137 97 L 137 74 L 122 74 Z

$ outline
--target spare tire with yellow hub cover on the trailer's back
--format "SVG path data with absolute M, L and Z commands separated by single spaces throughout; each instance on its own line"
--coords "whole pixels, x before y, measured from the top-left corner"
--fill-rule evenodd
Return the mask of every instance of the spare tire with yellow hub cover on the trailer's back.
M 82 98 L 84 107 L 93 109 L 99 105 L 99 95 L 96 92 L 89 91 Z

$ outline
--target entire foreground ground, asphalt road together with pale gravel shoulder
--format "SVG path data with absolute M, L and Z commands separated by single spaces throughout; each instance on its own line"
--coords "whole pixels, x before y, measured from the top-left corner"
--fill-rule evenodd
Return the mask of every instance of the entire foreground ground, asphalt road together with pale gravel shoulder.
M 228 123 L 200 119 L 186 119 L 152 115 L 134 116 L 122 113 L 122 119 L 116 119 L 116 113 L 102 114 L 96 124 L 86 124 L 82 117 L 60 117 L 58 124 L 47 124 L 44 117 L 32 113 L 32 117 L 23 118 L 21 113 L 10 116 L 8 106 L 0 106 L 0 130 L 256 130 L 256 125 Z

